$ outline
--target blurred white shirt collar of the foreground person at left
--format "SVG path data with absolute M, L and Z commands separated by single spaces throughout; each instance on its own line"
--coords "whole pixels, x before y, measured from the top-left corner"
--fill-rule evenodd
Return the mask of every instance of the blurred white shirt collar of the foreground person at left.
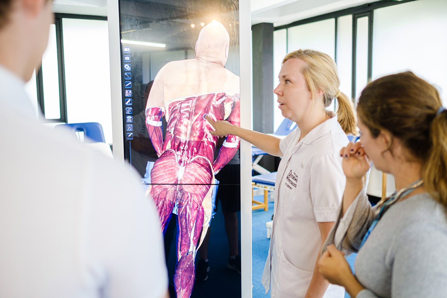
M 2 65 L 0 65 L 0 104 L 10 113 L 37 119 L 36 110 L 25 93 L 25 83 Z

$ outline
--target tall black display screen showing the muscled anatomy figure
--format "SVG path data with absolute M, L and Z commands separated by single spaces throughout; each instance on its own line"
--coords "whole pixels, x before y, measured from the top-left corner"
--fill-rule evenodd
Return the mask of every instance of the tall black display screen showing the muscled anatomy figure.
M 240 139 L 211 135 L 205 119 L 240 125 L 238 4 L 119 1 L 125 158 L 160 216 L 171 297 L 240 297 L 240 263 L 215 261 L 231 263 L 222 214 L 240 210 Z M 215 256 L 206 278 L 196 276 L 205 252 Z

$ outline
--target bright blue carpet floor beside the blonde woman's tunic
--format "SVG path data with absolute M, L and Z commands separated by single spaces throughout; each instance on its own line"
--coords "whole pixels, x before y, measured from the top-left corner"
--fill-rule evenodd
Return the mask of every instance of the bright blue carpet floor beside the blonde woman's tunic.
M 263 197 L 255 198 L 263 201 Z M 267 254 L 269 252 L 270 239 L 266 237 L 266 222 L 270 222 L 273 215 L 274 203 L 269 203 L 269 210 L 253 210 L 252 211 L 252 275 L 253 275 L 253 298 L 269 298 L 270 291 L 266 293 L 264 286 L 261 284 L 262 272 L 266 263 Z M 346 260 L 351 268 L 354 267 L 354 260 L 357 254 L 352 254 Z M 350 296 L 345 293 L 345 298 Z

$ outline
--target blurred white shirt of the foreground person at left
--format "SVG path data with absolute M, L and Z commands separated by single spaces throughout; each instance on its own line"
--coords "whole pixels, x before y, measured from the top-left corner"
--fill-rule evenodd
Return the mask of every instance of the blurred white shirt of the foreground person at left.
M 139 176 L 44 127 L 1 66 L 0 90 L 0 297 L 164 297 L 160 228 Z

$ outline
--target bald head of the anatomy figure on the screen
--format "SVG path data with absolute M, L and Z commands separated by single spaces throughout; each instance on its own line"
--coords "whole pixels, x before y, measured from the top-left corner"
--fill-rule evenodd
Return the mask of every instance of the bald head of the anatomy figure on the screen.
M 228 59 L 230 35 L 218 21 L 212 21 L 200 30 L 196 42 L 196 58 L 225 65 Z

